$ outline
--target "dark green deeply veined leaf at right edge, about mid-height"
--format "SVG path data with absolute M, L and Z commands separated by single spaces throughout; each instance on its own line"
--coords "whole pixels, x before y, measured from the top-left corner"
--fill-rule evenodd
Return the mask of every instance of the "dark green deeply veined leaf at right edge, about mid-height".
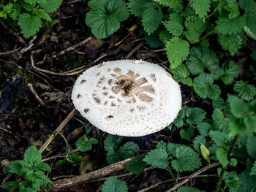
M 255 85 L 249 84 L 247 81 L 237 81 L 234 85 L 234 91 L 238 92 L 238 96 L 246 101 L 251 101 L 256 95 Z

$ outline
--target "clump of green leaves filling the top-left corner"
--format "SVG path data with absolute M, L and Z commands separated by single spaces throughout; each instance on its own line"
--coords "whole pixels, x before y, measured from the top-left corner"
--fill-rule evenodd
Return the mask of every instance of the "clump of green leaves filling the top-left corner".
M 62 0 L 12 0 L 4 4 L 2 1 L 0 18 L 11 18 L 15 25 L 18 24 L 25 38 L 33 37 L 42 26 L 42 20 L 50 21 L 49 14 L 56 11 L 61 2 Z

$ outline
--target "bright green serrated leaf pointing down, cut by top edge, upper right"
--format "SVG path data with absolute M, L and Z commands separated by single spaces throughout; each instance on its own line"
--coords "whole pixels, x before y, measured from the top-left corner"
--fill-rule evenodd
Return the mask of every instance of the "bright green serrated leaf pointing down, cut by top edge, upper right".
M 211 1 L 210 0 L 190 0 L 193 9 L 199 15 L 200 18 L 204 18 L 207 12 L 210 11 Z

